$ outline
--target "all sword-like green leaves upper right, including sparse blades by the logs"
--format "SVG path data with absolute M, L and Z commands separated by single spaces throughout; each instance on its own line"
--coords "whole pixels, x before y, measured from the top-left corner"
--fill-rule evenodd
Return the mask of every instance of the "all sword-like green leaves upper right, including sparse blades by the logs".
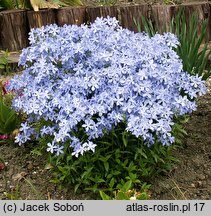
M 137 30 L 141 31 L 141 24 L 134 20 Z M 142 17 L 144 31 L 152 37 L 159 32 L 158 23 Z M 205 42 L 208 27 L 208 19 L 201 24 L 200 34 L 198 33 L 199 19 L 196 13 L 190 17 L 189 23 L 183 10 L 172 18 L 170 26 L 165 26 L 162 32 L 170 31 L 177 35 L 180 45 L 176 49 L 177 54 L 183 61 L 183 69 L 190 74 L 202 76 L 206 80 L 211 75 L 211 67 L 208 66 L 208 58 L 211 50 Z M 204 44 L 204 45 L 203 45 Z

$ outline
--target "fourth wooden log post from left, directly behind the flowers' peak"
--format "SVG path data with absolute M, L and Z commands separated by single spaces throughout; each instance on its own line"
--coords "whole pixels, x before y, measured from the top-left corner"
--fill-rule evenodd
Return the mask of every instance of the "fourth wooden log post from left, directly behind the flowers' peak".
M 86 8 L 86 21 L 94 22 L 97 17 L 116 17 L 118 19 L 118 8 L 116 6 L 99 6 Z

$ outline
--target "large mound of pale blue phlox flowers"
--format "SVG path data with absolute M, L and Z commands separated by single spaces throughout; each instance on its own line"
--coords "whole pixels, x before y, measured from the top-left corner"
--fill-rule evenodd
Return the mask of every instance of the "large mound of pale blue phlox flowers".
M 170 144 L 173 117 L 195 110 L 194 99 L 205 93 L 201 78 L 183 71 L 171 33 L 149 38 L 108 17 L 90 26 L 32 29 L 29 39 L 19 61 L 24 72 L 9 86 L 18 93 L 14 108 L 28 116 L 19 144 L 33 133 L 47 135 L 47 151 L 60 154 L 69 142 L 78 156 L 94 151 L 95 139 L 121 121 L 147 144 L 155 137 Z M 39 121 L 48 124 L 33 130 Z M 85 138 L 77 136 L 79 129 Z

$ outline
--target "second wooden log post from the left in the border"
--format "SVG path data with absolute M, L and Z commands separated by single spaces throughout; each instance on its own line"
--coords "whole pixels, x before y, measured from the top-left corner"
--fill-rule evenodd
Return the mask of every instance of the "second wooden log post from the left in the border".
M 40 28 L 48 24 L 56 23 L 55 9 L 44 9 L 39 11 L 27 11 L 29 27 Z

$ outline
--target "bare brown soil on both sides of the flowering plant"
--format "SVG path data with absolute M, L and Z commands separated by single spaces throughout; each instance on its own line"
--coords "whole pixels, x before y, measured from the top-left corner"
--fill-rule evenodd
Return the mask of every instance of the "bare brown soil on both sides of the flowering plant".
M 165 176 L 151 180 L 151 199 L 211 199 L 211 79 L 207 94 L 186 124 L 188 135 L 174 151 L 178 159 Z M 90 193 L 74 194 L 50 183 L 52 174 L 32 146 L 0 143 L 0 199 L 96 199 Z

